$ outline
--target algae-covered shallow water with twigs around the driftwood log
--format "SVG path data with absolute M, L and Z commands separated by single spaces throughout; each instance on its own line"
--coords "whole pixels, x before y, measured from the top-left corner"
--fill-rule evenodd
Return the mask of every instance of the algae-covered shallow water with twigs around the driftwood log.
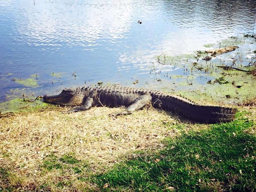
M 241 48 L 213 57 L 210 61 L 202 60 L 207 55 L 205 50 L 208 49 L 193 51 L 191 52 L 193 54 L 189 55 L 180 54 L 169 57 L 166 56 L 166 53 L 159 56 L 158 63 L 162 63 L 161 69 L 165 69 L 165 65 L 170 64 L 182 73 L 181 75 L 177 74 L 177 72 L 172 74 L 172 71 L 170 71 L 168 74 L 169 83 L 168 78 L 162 81 L 163 86 L 166 87 L 166 84 L 169 84 L 170 89 L 164 89 L 164 91 L 180 94 L 195 101 L 202 99 L 231 104 L 238 104 L 246 99 L 255 98 L 256 77 L 253 76 L 255 69 L 253 66 L 247 67 L 247 65 L 251 65 L 254 62 L 254 60 L 250 61 L 255 59 L 253 56 L 250 59 L 247 58 L 247 55 L 251 55 L 251 53 L 254 53 L 252 50 L 256 49 L 256 46 L 251 44 L 252 40 L 253 38 L 240 36 L 206 44 L 204 46 L 211 47 L 211 49 L 219 49 L 230 45 Z M 245 61 L 248 62 L 246 63 Z M 252 72 L 246 73 L 232 68 L 225 70 L 219 66 L 231 66 Z M 165 69 L 165 71 L 167 70 Z

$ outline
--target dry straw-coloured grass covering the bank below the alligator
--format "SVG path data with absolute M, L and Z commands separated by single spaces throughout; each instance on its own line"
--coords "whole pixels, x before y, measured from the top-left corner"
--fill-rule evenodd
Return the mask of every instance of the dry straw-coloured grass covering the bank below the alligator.
M 65 110 L 56 107 L 0 118 L 0 168 L 8 172 L 5 176 L 8 182 L 0 184 L 0 190 L 8 187 L 6 183 L 17 191 L 39 190 L 44 183 L 48 183 L 47 189 L 51 191 L 94 188 L 92 183 L 78 181 L 79 174 L 86 177 L 101 173 L 115 163 L 138 155 L 136 151 L 145 151 L 145 155 L 157 153 L 165 147 L 162 142 L 165 137 L 175 138 L 181 131 L 208 127 L 183 120 L 181 129 L 173 128 L 171 125 L 181 120 L 153 108 L 117 119 L 109 114 L 122 110 L 120 108 L 94 107 L 79 113 L 61 113 Z M 87 162 L 89 168 L 79 174 L 68 169 L 62 174 L 57 169 L 48 171 L 43 163 L 49 155 L 57 158 L 72 155 L 78 161 Z M 59 189 L 56 183 L 60 181 L 72 181 L 72 184 L 69 189 Z

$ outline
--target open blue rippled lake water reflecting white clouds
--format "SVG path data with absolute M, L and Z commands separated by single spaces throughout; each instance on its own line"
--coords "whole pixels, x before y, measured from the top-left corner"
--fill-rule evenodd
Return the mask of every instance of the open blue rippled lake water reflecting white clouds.
M 172 79 L 166 78 L 164 85 L 156 79 L 184 70 L 163 68 L 157 56 L 191 54 L 206 49 L 205 44 L 253 34 L 255 6 L 255 1 L 242 0 L 3 0 L 0 102 L 17 88 L 37 95 L 99 81 L 154 89 L 171 86 Z M 155 68 L 162 73 L 151 73 Z

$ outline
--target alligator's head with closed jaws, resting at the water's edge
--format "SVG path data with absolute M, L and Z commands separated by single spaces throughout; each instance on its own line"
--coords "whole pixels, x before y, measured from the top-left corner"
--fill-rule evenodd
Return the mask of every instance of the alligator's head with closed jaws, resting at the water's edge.
M 55 103 L 67 106 L 81 105 L 85 93 L 81 89 L 63 89 L 58 95 L 45 95 L 43 100 L 48 103 Z

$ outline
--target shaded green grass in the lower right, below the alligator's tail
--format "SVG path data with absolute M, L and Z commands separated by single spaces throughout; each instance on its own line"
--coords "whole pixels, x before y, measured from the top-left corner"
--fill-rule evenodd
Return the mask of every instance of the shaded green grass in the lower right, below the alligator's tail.
M 238 113 L 234 122 L 167 138 L 159 154 L 130 159 L 95 175 L 94 182 L 108 183 L 106 191 L 255 191 L 256 138 L 245 132 L 253 125 Z

